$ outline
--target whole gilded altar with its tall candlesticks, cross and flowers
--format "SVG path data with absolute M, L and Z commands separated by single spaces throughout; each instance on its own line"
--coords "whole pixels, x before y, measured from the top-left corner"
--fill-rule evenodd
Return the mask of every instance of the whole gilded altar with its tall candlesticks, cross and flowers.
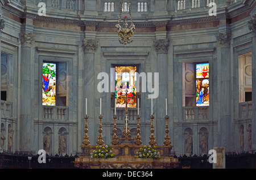
M 88 115 L 86 110 L 85 119 L 85 135 L 82 142 L 82 155 L 75 158 L 74 164 L 76 168 L 81 169 L 171 169 L 178 168 L 178 158 L 171 156 L 172 145 L 170 136 L 168 135 L 168 116 L 166 119 L 166 135 L 164 136 L 163 145 L 157 145 L 154 136 L 154 116 L 151 113 L 151 126 L 148 145 L 143 145 L 141 141 L 141 130 L 139 125 L 139 112 L 137 115 L 137 136 L 131 138 L 130 127 L 128 125 L 129 119 L 127 115 L 127 92 L 124 97 L 125 110 L 125 126 L 123 127 L 122 138 L 117 136 L 117 115 L 114 113 L 114 130 L 112 137 L 112 144 L 105 145 L 102 136 L 102 115 L 100 110 L 100 126 L 97 145 L 90 145 L 88 136 Z M 87 100 L 86 100 L 87 102 Z M 86 103 L 87 106 L 87 103 Z M 152 101 L 151 101 L 152 107 Z M 100 99 L 101 109 L 101 99 Z M 152 109 L 152 108 L 151 108 Z M 152 110 L 151 110 L 152 112 Z M 167 111 L 166 111 L 167 112 Z M 167 113 L 166 113 L 167 114 Z M 149 149 L 149 150 L 148 150 Z M 154 152 L 154 153 L 153 153 Z M 110 156 L 111 155 L 111 156 Z M 143 155 L 143 156 L 142 156 Z

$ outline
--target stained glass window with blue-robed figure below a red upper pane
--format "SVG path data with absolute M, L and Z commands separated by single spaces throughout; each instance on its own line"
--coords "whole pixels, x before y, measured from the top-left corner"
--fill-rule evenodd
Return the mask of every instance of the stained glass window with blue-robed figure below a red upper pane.
M 209 106 L 209 63 L 196 64 L 196 106 Z

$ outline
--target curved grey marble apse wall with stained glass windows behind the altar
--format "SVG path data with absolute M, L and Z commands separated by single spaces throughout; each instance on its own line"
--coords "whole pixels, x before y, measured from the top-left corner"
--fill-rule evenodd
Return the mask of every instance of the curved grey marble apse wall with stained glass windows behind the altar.
M 86 115 L 110 145 L 138 114 L 172 155 L 256 150 L 256 1 L 0 1 L 2 151 L 81 155 Z

